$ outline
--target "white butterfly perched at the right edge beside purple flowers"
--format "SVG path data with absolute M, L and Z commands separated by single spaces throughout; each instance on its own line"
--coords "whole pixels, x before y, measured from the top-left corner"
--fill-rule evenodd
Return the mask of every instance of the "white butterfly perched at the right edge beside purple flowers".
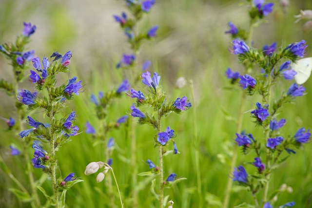
M 294 76 L 296 83 L 299 85 L 305 83 L 311 75 L 312 57 L 297 60 L 297 63 L 292 63 L 292 69 L 297 72 Z

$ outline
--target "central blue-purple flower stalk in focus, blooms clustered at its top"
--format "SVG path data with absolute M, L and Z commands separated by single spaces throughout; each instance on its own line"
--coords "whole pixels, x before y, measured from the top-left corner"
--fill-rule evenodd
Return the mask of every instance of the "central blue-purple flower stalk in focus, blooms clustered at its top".
M 148 71 L 144 72 L 141 77 L 142 82 L 149 87 L 148 94 L 144 95 L 141 91 L 136 91 L 134 89 L 129 92 L 129 95 L 136 99 L 136 103 L 130 107 L 131 115 L 138 118 L 139 124 L 151 125 L 156 130 L 153 141 L 155 146 L 158 146 L 159 167 L 157 167 L 152 161 L 147 160 L 150 169 L 153 169 L 153 171 L 140 173 L 139 175 L 154 175 L 155 177 L 159 175 L 159 194 L 156 194 L 155 191 L 153 191 L 153 193 L 155 193 L 156 198 L 159 200 L 159 207 L 163 208 L 164 188 L 170 188 L 172 184 L 185 178 L 176 179 L 176 173 L 172 173 L 168 176 L 166 181 L 164 181 L 163 156 L 169 153 L 177 154 L 178 151 L 174 140 L 174 137 L 176 137 L 175 131 L 170 127 L 167 127 L 165 131 L 163 131 L 161 127 L 161 118 L 171 112 L 181 113 L 181 111 L 186 111 L 192 105 L 186 96 L 181 98 L 178 97 L 175 101 L 167 103 L 167 96 L 161 86 L 159 86 L 160 76 L 156 72 L 154 73 L 153 78 Z M 150 108 L 151 112 L 141 112 L 138 107 L 143 106 Z M 168 148 L 171 145 L 173 151 L 168 151 Z M 152 189 L 154 190 L 153 186 Z

